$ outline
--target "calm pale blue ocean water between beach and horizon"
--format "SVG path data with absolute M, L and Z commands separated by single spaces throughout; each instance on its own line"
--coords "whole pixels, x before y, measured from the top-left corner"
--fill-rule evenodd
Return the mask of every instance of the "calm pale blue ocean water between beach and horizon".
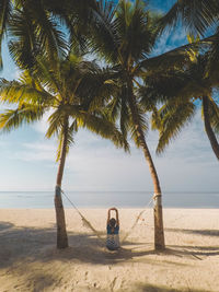
M 79 208 L 145 208 L 152 191 L 65 191 Z M 165 191 L 163 208 L 219 208 L 219 191 Z M 71 208 L 62 196 L 65 208 Z M 0 191 L 0 209 L 54 208 L 54 191 Z

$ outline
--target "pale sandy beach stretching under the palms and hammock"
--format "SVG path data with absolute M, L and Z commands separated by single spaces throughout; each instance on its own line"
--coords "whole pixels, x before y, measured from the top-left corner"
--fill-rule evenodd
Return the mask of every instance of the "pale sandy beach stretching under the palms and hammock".
M 120 209 L 120 240 L 140 210 Z M 66 210 L 70 247 L 57 250 L 55 211 L 1 209 L 0 291 L 219 291 L 219 210 L 164 209 L 166 250 L 153 252 L 153 213 L 118 253 L 104 247 L 106 209 Z

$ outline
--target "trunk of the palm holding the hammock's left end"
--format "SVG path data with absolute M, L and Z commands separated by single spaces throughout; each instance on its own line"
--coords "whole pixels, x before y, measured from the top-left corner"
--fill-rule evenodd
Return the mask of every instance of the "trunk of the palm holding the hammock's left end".
M 68 136 L 68 119 L 65 120 L 64 125 L 64 140 L 61 147 L 61 155 L 58 166 L 58 174 L 56 180 L 55 191 L 55 209 L 56 209 L 56 224 L 57 224 L 57 248 L 68 247 L 68 236 L 66 231 L 66 219 L 61 199 L 61 180 L 64 175 L 64 167 L 66 162 L 66 149 L 67 149 L 67 137 Z

